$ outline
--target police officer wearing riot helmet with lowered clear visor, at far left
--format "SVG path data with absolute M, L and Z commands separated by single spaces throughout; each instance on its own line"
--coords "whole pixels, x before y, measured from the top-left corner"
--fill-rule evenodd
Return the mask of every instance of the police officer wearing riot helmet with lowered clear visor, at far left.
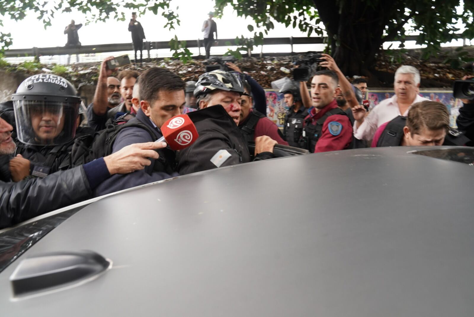
M 79 127 L 85 107 L 73 84 L 57 75 L 33 75 L 19 85 L 12 100 L 18 123 L 13 159 L 36 177 L 72 168 L 74 139 L 94 134 Z

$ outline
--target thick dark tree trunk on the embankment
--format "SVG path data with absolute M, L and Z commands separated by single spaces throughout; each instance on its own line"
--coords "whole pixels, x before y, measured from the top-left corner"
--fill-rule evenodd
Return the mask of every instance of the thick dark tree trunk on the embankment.
M 346 0 L 313 0 L 324 23 L 331 44 L 331 55 L 341 71 L 348 76 L 369 77 L 369 85 L 378 84 L 374 76 L 375 55 L 386 40 L 396 35 L 396 30 L 387 36 L 383 31 L 392 16 L 392 10 L 401 6 L 397 0 L 367 2 Z

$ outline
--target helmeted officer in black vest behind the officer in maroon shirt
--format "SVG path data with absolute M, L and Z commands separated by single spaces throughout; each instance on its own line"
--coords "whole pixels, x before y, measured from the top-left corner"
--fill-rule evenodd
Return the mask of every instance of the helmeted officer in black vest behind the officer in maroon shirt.
M 286 112 L 283 135 L 290 146 L 299 147 L 298 141 L 303 131 L 304 118 L 308 115 L 308 109 L 301 101 L 300 84 L 285 83 L 279 92 L 284 93 L 285 103 L 290 107 Z

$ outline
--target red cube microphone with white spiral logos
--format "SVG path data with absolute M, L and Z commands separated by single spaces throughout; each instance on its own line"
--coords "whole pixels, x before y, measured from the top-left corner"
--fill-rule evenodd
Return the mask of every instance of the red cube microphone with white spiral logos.
M 174 151 L 187 148 L 199 138 L 196 126 L 187 114 L 177 115 L 161 126 L 163 136 L 155 142 L 166 141 Z

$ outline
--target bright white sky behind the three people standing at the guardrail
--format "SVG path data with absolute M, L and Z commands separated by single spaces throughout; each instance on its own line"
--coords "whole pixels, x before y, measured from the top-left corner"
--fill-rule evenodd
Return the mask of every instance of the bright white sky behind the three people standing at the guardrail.
M 197 2 L 197 1 L 196 1 Z M 144 16 L 139 16 L 146 39 L 149 41 L 168 41 L 174 35 L 179 39 L 197 39 L 202 38 L 202 22 L 207 19 L 207 13 L 213 10 L 213 0 L 199 0 L 200 5 L 189 6 L 189 0 L 173 0 L 172 4 L 177 10 L 181 19 L 181 26 L 175 26 L 176 30 L 169 31 L 164 29 L 166 19 L 153 12 L 148 11 Z M 126 12 L 127 17 L 131 15 L 131 10 Z M 64 46 L 66 35 L 64 28 L 74 19 L 76 24 L 85 23 L 86 17 L 82 13 L 63 13 L 55 15 L 52 26 L 46 30 L 43 23 L 36 19 L 36 14 L 29 14 L 22 21 L 5 21 L 5 30 L 11 32 L 14 39 L 11 48 L 29 48 L 29 47 L 56 47 Z M 239 18 L 228 6 L 224 11 L 222 19 L 215 19 L 218 26 L 218 36 L 220 38 L 235 38 L 236 36 L 250 36 L 247 25 L 252 23 L 252 19 Z M 253 34 L 252 34 L 253 35 Z M 298 29 L 285 28 L 283 24 L 275 24 L 275 29 L 269 32 L 268 37 L 303 37 L 306 36 Z M 91 23 L 83 26 L 79 30 L 79 39 L 82 45 L 106 44 L 106 43 L 127 43 L 131 42 L 130 32 L 128 32 L 127 21 L 109 20 L 107 22 Z

